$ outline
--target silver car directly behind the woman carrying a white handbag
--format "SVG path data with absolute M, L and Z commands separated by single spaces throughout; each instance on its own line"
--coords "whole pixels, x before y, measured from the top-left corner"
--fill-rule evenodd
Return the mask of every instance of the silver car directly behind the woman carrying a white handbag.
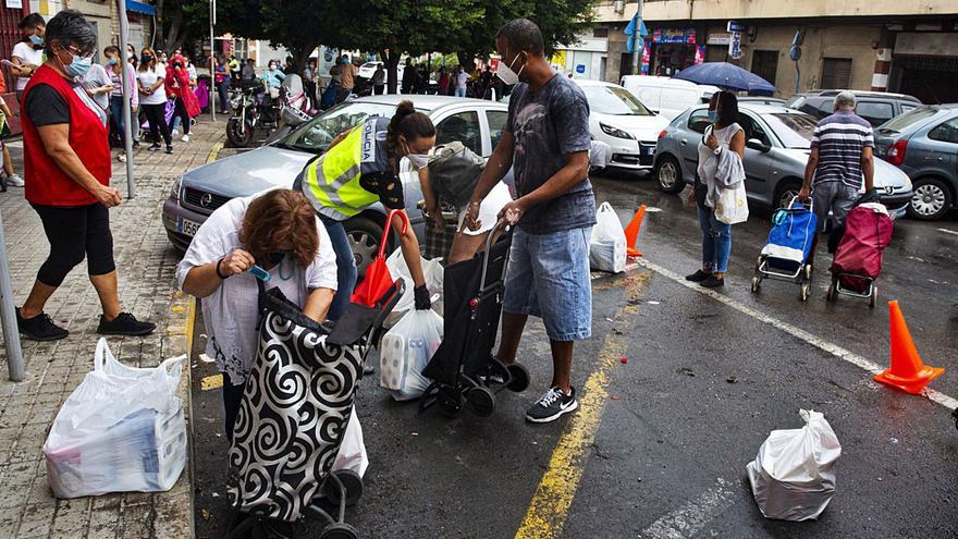
M 708 125 L 709 107 L 693 107 L 659 135 L 655 179 L 666 193 L 679 193 L 696 177 L 698 143 Z M 749 200 L 766 207 L 787 205 L 801 189 L 813 117 L 793 109 L 739 103 L 738 123 L 746 132 L 745 173 Z M 899 218 L 911 200 L 911 181 L 896 167 L 875 159 L 875 188 L 888 212 Z

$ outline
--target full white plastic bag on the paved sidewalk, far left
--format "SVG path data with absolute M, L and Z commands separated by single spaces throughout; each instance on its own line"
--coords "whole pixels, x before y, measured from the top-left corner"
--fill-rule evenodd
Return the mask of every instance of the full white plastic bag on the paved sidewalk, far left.
M 186 464 L 186 421 L 175 395 L 185 359 L 127 367 L 100 339 L 94 370 L 63 403 L 44 443 L 54 495 L 173 487 Z

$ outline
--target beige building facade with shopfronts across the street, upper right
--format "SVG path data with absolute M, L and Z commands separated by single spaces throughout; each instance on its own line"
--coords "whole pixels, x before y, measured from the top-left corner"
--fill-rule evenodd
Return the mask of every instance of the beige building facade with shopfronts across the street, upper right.
M 631 73 L 626 25 L 635 1 L 600 1 L 585 48 L 564 50 L 574 76 L 618 82 Z M 900 91 L 924 102 L 958 101 L 958 1 L 955 0 L 647 0 L 642 73 L 672 75 L 700 62 L 728 61 L 761 75 L 779 97 L 814 88 Z M 740 28 L 740 58 L 729 54 Z M 801 57 L 789 54 L 798 40 Z M 604 52 L 599 52 L 603 51 Z M 594 58 L 598 56 L 599 58 Z

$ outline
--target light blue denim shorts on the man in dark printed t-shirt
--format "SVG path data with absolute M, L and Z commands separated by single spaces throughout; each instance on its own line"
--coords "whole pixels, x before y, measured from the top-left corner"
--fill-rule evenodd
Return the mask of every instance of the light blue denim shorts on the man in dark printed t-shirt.
M 553 341 L 592 336 L 592 280 L 589 237 L 592 228 L 548 234 L 513 235 L 502 309 L 542 318 Z

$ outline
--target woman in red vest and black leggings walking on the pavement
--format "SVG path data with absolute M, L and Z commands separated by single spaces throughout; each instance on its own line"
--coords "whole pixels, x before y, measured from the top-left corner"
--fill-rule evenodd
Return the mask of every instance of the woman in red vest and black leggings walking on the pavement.
M 96 45 L 96 29 L 78 11 L 61 11 L 47 23 L 47 61 L 24 88 L 24 195 L 50 242 L 50 256 L 16 313 L 20 333 L 36 341 L 69 334 L 44 306 L 84 257 L 103 307 L 97 332 L 145 335 L 156 329 L 120 309 L 107 208 L 119 205 L 121 196 L 110 187 L 107 113 L 76 82 L 89 70 Z

